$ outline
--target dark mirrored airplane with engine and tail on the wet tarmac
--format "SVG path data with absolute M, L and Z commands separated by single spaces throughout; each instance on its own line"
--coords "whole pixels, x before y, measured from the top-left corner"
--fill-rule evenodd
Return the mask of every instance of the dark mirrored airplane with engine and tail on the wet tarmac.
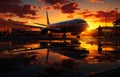
M 89 51 L 86 50 L 85 48 L 81 48 L 78 40 L 71 40 L 71 41 L 72 41 L 71 43 L 65 42 L 65 41 L 64 42 L 40 42 L 39 48 L 34 48 L 30 50 L 47 49 L 47 57 L 49 56 L 50 51 L 59 53 L 74 59 L 82 59 L 86 57 Z

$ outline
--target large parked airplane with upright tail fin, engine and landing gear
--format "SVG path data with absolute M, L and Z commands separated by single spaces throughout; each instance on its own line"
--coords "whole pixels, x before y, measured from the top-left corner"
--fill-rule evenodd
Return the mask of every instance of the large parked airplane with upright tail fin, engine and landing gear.
M 52 35 L 52 32 L 63 33 L 63 38 L 65 38 L 66 33 L 70 32 L 71 35 L 76 35 L 77 38 L 80 38 L 79 34 L 85 31 L 89 27 L 87 22 L 83 19 L 72 19 L 72 20 L 66 20 L 66 21 L 50 24 L 47 11 L 46 11 L 46 18 L 47 18 L 47 25 L 35 23 L 38 25 L 42 25 L 41 34 L 43 35 L 46 35 L 48 33 Z

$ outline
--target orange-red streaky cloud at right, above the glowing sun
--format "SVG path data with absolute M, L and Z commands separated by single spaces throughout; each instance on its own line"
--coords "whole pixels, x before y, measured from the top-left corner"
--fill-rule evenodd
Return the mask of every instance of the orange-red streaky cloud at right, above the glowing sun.
M 82 12 L 80 13 L 84 18 L 94 17 L 96 22 L 113 22 L 115 20 L 116 11 L 111 10 L 109 12 L 105 11 L 96 11 L 96 12 Z M 117 14 L 117 17 L 120 17 L 120 13 Z

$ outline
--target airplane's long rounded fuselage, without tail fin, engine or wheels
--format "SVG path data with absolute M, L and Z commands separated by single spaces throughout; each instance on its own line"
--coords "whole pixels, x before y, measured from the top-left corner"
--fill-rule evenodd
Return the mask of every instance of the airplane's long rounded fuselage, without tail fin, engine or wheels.
M 73 19 L 54 24 L 49 24 L 47 28 L 54 32 L 79 32 L 86 30 L 88 24 L 83 19 Z

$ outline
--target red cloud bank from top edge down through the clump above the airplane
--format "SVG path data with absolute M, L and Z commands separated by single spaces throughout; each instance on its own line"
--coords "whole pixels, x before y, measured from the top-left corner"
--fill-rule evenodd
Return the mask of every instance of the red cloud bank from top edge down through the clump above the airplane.
M 74 0 L 38 0 L 39 2 L 44 1 L 45 6 L 52 6 L 55 10 L 61 10 L 62 13 L 74 13 L 75 10 L 79 10 L 78 3 Z M 47 9 L 47 8 L 46 8 Z

